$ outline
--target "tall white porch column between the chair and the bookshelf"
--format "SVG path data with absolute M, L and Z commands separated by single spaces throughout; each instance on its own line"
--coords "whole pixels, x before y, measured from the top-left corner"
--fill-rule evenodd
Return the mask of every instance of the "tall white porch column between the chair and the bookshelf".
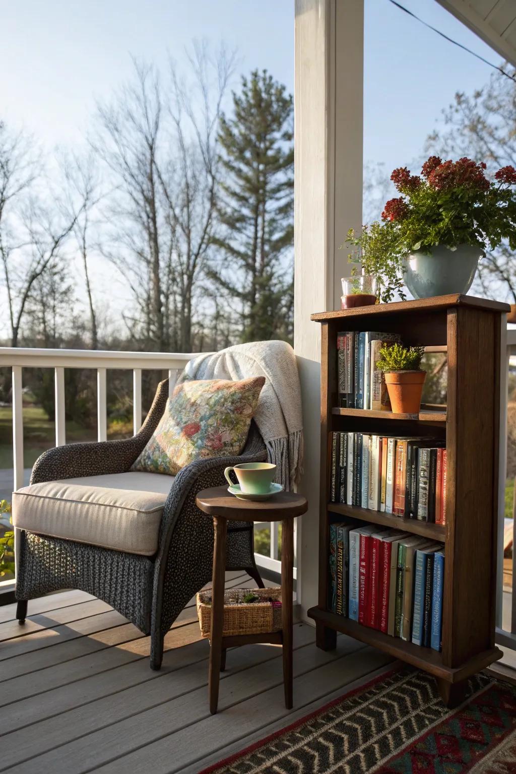
M 301 617 L 317 602 L 320 462 L 320 324 L 340 307 L 350 273 L 348 228 L 362 222 L 363 0 L 296 0 L 294 348 L 305 430 L 298 557 Z M 299 571 L 300 570 L 300 571 Z

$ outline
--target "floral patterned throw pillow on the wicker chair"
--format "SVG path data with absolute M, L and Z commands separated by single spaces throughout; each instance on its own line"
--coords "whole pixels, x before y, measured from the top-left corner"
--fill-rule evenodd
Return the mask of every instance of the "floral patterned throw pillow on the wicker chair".
M 258 376 L 177 385 L 132 470 L 176 475 L 194 460 L 240 454 L 264 384 Z

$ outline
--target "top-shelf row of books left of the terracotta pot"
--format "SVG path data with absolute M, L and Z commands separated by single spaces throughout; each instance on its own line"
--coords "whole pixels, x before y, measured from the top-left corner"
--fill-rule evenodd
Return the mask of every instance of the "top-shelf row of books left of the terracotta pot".
M 337 334 L 337 375 L 340 406 L 390 411 L 384 375 L 376 361 L 383 344 L 399 343 L 398 334 L 344 330 Z

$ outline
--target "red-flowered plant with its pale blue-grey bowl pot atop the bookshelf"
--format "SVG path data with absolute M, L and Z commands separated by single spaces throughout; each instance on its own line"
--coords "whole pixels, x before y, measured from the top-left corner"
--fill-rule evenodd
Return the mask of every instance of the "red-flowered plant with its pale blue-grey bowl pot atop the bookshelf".
M 421 176 L 406 167 L 391 174 L 402 196 L 385 204 L 393 249 L 405 262 L 415 298 L 467 293 L 487 250 L 507 240 L 516 249 L 516 170 L 504 166 L 490 181 L 486 164 L 430 156 Z

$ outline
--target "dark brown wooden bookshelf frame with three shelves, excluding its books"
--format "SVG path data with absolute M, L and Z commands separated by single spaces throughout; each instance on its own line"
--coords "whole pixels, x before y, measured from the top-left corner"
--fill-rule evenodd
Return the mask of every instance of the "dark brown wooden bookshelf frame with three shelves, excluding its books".
M 471 296 L 439 296 L 312 315 L 321 324 L 321 469 L 319 601 L 309 615 L 316 642 L 336 646 L 343 632 L 436 676 L 452 706 L 466 678 L 501 658 L 494 643 L 497 567 L 500 341 L 506 304 Z M 447 347 L 446 411 L 419 414 L 338 407 L 340 330 L 398 333 L 405 345 Z M 421 434 L 446 439 L 446 526 L 330 503 L 329 436 L 335 431 Z M 359 519 L 445 543 L 443 651 L 415 646 L 328 611 L 330 522 Z

